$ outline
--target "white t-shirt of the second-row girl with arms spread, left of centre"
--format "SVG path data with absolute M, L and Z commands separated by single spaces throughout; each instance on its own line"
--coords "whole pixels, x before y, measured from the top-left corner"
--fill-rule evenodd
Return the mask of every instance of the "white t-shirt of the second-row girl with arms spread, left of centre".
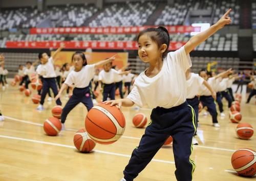
M 72 70 L 64 82 L 69 87 L 84 88 L 89 86 L 94 76 L 95 64 L 83 66 L 79 72 Z

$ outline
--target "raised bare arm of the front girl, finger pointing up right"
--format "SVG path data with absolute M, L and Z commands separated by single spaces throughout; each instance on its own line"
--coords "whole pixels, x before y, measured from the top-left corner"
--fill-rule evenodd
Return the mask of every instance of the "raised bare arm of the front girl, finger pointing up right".
M 189 41 L 184 45 L 186 54 L 189 54 L 196 46 L 205 41 L 208 37 L 215 34 L 218 30 L 222 29 L 226 24 L 231 23 L 231 19 L 228 16 L 231 9 L 229 9 L 215 24 L 211 25 L 211 27 L 194 37 L 190 38 Z

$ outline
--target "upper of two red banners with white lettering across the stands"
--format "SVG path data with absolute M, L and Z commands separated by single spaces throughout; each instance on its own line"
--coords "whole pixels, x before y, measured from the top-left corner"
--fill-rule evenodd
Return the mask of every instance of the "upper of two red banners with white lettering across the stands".
M 32 28 L 30 34 L 135 34 L 142 30 L 156 26 L 142 27 L 67 27 L 67 28 Z M 166 26 L 168 32 L 172 33 L 190 33 L 200 32 L 201 27 L 192 26 Z

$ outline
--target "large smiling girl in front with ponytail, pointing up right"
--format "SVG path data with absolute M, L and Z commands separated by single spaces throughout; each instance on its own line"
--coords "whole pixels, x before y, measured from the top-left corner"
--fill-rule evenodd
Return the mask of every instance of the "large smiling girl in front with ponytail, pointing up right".
M 138 55 L 150 67 L 137 77 L 127 98 L 105 101 L 105 104 L 117 105 L 119 108 L 134 104 L 153 108 L 152 122 L 146 127 L 139 146 L 134 149 L 121 180 L 136 178 L 170 135 L 174 139 L 176 178 L 182 181 L 192 180 L 195 162 L 189 157 L 196 119 L 193 108 L 186 102 L 185 72 L 191 66 L 189 53 L 231 22 L 228 17 L 230 11 L 231 9 L 208 30 L 192 37 L 180 49 L 168 54 L 169 34 L 165 28 L 149 28 L 138 35 Z

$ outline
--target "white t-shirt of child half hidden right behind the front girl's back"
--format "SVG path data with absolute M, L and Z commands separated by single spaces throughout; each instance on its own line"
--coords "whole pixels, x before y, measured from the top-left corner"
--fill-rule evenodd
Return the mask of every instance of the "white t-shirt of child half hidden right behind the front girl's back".
M 187 80 L 187 98 L 194 98 L 199 93 L 204 79 L 199 74 L 191 73 L 190 79 Z

